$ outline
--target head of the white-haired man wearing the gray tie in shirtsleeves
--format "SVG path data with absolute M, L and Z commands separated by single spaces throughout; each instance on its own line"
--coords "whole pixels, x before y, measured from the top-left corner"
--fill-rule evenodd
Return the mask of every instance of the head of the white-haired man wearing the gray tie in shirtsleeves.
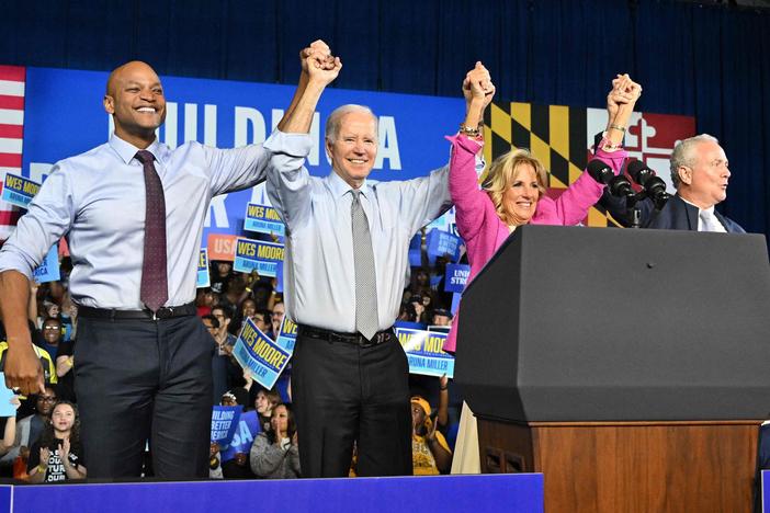
M 352 111 L 339 122 L 335 140 L 326 140 L 331 167 L 351 187 L 359 189 L 377 157 L 377 125 L 369 112 Z

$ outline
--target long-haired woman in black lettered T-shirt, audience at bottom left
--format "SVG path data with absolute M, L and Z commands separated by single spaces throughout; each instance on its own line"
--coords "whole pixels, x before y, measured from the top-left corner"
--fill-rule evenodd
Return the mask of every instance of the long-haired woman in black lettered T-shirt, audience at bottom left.
M 26 471 L 30 482 L 57 482 L 84 479 L 86 460 L 80 444 L 78 410 L 69 401 L 59 401 L 50 422 L 30 448 Z

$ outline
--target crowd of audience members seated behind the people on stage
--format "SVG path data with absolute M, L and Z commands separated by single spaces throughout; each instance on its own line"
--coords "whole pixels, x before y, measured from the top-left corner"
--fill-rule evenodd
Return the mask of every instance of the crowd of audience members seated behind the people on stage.
M 443 262 L 443 263 L 442 263 Z M 403 309 L 420 309 L 420 316 L 404 320 L 429 326 L 449 326 L 452 315 L 444 303 L 445 294 L 431 287 L 429 277 L 440 272 L 445 259 L 437 265 L 414 267 L 416 276 L 404 290 Z M 87 477 L 79 434 L 78 406 L 75 395 L 73 350 L 78 333 L 78 308 L 68 290 L 70 259 L 61 259 L 61 280 L 38 285 L 32 282 L 29 323 L 35 351 L 45 369 L 45 392 L 15 397 L 15 415 L 2 418 L 4 437 L 0 442 L 0 477 L 32 483 L 59 482 Z M 292 410 L 291 367 L 271 390 L 257 385 L 233 357 L 233 347 L 246 319 L 251 319 L 265 335 L 275 338 L 285 315 L 283 297 L 275 292 L 274 278 L 235 272 L 231 262 L 215 261 L 211 266 L 211 286 L 197 290 L 197 317 L 211 333 L 214 395 L 212 404 L 239 406 L 253 410 L 259 419 L 248 454 L 236 453 L 223 460 L 219 446 L 212 443 L 210 477 L 212 479 L 297 478 L 302 477 L 296 421 Z M 410 324 L 412 326 L 412 324 Z M 0 368 L 8 343 L 0 323 Z M 416 474 L 446 474 L 456 431 L 458 404 L 449 403 L 449 380 L 412 376 L 414 448 Z M 441 390 L 440 390 L 441 389 Z M 428 401 L 429 398 L 431 402 Z M 430 404 L 437 404 L 431 408 Z M 439 406 L 440 404 L 440 406 Z M 441 412 L 435 420 L 431 411 Z M 450 415 L 454 424 L 450 423 Z M 437 430 L 438 426 L 438 430 Z M 435 456 L 432 441 L 441 441 Z M 151 457 L 147 455 L 146 461 Z M 449 459 L 448 459 L 449 458 Z M 351 459 L 351 476 L 355 460 Z M 143 474 L 152 476 L 151 465 Z

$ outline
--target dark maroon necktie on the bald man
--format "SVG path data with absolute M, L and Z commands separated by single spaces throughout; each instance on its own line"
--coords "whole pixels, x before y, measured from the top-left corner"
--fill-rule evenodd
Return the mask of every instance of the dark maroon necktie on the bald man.
M 152 311 L 166 305 L 169 298 L 166 275 L 166 197 L 155 157 L 147 150 L 136 152 L 136 160 L 145 168 L 145 254 L 141 262 L 139 298 Z

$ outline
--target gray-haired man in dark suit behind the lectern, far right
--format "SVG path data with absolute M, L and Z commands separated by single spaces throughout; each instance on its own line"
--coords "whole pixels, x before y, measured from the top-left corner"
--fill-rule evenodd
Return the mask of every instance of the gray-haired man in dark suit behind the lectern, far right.
M 677 144 L 671 152 L 671 182 L 677 194 L 657 210 L 650 200 L 636 204 L 642 228 L 745 233 L 714 206 L 727 197 L 729 169 L 716 138 L 701 134 Z M 601 204 L 621 224 L 626 220 L 625 198 L 604 193 Z

